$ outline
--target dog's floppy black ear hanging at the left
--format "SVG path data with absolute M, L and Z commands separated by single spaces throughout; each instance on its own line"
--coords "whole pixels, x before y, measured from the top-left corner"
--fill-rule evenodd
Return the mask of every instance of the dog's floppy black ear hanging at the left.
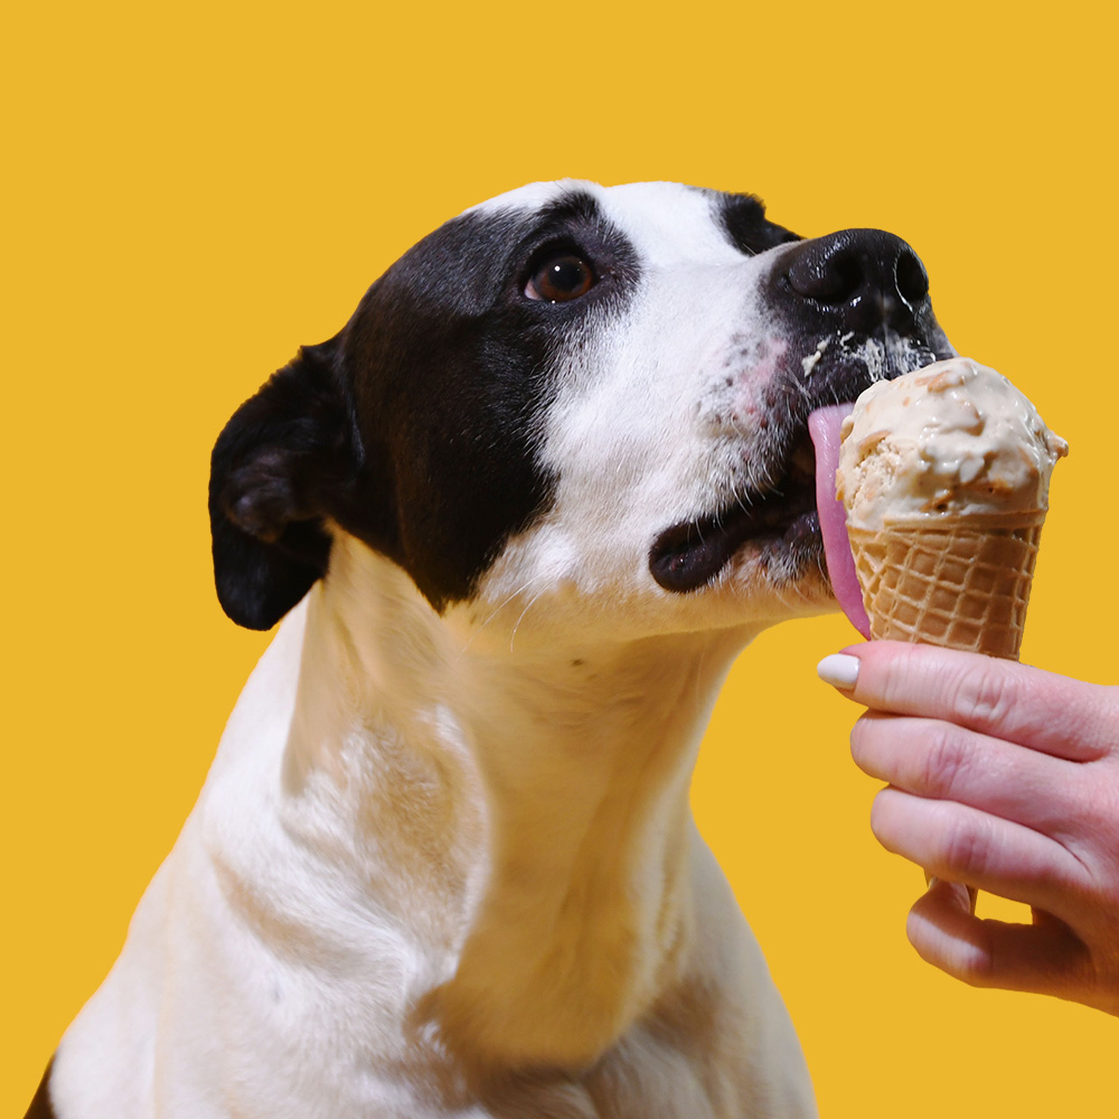
M 323 518 L 360 451 L 338 339 L 304 346 L 234 413 L 210 458 L 214 580 L 225 612 L 271 629 L 327 572 Z

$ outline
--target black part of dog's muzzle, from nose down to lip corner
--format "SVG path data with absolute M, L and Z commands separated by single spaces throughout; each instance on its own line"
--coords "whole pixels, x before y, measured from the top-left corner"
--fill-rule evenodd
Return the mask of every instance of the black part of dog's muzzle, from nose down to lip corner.
M 762 472 L 772 482 L 665 529 L 649 570 L 666 591 L 711 583 L 749 542 L 801 558 L 822 555 L 808 416 L 854 401 L 875 379 L 951 356 L 916 253 L 882 229 L 841 229 L 780 250 L 767 302 L 786 323 L 780 382 L 767 398 Z M 869 354 L 878 360 L 872 365 Z

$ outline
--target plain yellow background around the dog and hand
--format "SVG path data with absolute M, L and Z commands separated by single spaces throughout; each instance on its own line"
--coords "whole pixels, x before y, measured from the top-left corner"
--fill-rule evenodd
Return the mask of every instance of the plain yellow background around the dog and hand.
M 115 957 L 266 642 L 211 590 L 216 433 L 408 245 L 501 190 L 677 179 L 755 191 L 806 234 L 906 237 L 955 345 L 1072 444 L 1024 659 L 1119 680 L 1103 6 L 313 10 L 8 20 L 3 1115 Z M 909 948 L 921 874 L 872 838 L 855 711 L 814 675 L 850 636 L 763 636 L 695 784 L 822 1115 L 1115 1113 L 1119 1022 L 971 990 Z

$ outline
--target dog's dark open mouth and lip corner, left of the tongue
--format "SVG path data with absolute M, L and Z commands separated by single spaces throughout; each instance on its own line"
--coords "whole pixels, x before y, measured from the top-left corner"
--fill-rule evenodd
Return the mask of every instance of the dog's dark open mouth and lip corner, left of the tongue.
M 775 485 L 746 491 L 718 513 L 666 528 L 649 551 L 649 571 L 666 591 L 695 591 L 711 583 L 747 543 L 794 549 L 807 542 L 821 546 L 816 453 L 806 431 Z

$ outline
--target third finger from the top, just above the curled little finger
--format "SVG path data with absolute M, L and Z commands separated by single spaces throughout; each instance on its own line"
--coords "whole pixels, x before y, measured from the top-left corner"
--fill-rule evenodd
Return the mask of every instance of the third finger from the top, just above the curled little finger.
M 871 830 L 886 850 L 938 878 L 965 882 L 1059 916 L 1088 892 L 1090 875 L 1049 836 L 951 800 L 927 800 L 883 789 Z

